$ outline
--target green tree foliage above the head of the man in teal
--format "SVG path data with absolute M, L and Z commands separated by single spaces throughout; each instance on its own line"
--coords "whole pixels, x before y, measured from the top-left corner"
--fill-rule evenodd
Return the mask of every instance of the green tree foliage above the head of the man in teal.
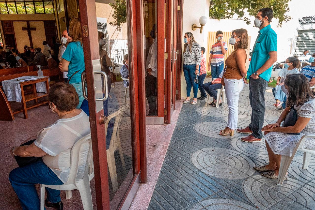
M 277 27 L 283 22 L 292 18 L 285 15 L 289 10 L 291 0 L 210 0 L 209 17 L 217 19 L 231 19 L 234 14 L 243 19 L 246 24 L 251 24 L 251 19 L 244 17 L 247 11 L 249 15 L 256 16 L 261 8 L 270 7 L 273 10 L 273 17 L 279 20 Z

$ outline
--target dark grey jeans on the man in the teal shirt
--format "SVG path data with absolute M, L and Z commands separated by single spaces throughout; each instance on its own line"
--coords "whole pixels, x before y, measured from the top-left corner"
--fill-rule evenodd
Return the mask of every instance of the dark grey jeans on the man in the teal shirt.
M 265 92 L 268 82 L 263 78 L 253 79 L 249 77 L 249 102 L 252 107 L 252 116 L 249 128 L 255 138 L 261 139 L 261 128 L 265 118 Z

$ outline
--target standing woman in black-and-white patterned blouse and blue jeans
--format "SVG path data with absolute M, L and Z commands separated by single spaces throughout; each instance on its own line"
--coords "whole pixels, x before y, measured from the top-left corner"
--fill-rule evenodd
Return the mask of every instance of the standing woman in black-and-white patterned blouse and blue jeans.
M 194 99 L 191 104 L 197 103 L 197 93 L 198 93 L 198 82 L 194 80 L 197 74 L 200 71 L 200 62 L 201 62 L 201 48 L 200 45 L 195 41 L 194 36 L 191 32 L 185 33 L 184 38 L 184 76 L 186 80 L 186 92 L 187 98 L 183 101 L 184 104 L 189 102 L 190 92 L 193 89 Z

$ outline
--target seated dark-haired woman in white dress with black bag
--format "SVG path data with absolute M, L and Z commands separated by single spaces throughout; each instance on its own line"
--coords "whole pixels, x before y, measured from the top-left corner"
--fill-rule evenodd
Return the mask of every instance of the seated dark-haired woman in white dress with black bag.
M 254 167 L 261 175 L 270 179 L 278 179 L 281 156 L 292 156 L 293 151 L 304 134 L 315 134 L 315 92 L 310 90 L 307 78 L 302 74 L 289 74 L 284 81 L 284 92 L 288 93 L 287 107 L 276 123 L 266 125 L 261 129 L 265 131 L 266 148 L 269 164 Z M 297 111 L 297 121 L 289 117 L 291 126 L 280 127 L 289 114 L 291 106 Z M 295 112 L 291 110 L 290 116 Z M 289 120 L 287 119 L 287 120 Z M 289 125 L 288 124 L 288 125 Z M 305 139 L 304 148 L 315 150 L 315 141 Z M 287 176 L 284 180 L 287 180 Z

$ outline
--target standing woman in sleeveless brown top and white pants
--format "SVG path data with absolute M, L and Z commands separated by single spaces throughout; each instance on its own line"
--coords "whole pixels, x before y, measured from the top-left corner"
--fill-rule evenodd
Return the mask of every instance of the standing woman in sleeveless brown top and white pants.
M 226 70 L 223 74 L 225 83 L 225 94 L 229 107 L 229 116 L 226 128 L 220 131 L 220 135 L 234 135 L 238 122 L 238 99 L 239 94 L 247 83 L 245 62 L 247 59 L 246 51 L 248 47 L 248 34 L 246 29 L 236 29 L 232 31 L 229 43 L 234 45 L 234 51 L 227 57 L 225 64 Z

